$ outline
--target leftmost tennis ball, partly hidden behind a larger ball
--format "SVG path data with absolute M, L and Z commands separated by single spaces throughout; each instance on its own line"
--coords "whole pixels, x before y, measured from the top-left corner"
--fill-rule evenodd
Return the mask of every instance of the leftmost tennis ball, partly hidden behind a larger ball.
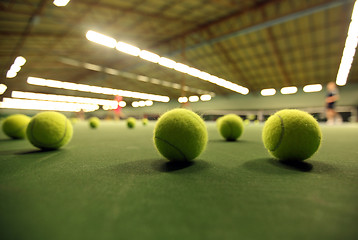
M 23 114 L 14 114 L 7 117 L 2 125 L 4 133 L 14 139 L 22 139 L 26 136 L 26 127 L 31 118 Z

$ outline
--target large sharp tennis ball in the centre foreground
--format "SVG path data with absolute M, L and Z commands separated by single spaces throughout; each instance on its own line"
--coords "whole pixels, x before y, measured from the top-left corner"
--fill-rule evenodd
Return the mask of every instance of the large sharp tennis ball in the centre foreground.
M 206 147 L 208 131 L 196 113 L 176 108 L 164 113 L 154 128 L 154 144 L 170 161 L 190 161 Z

